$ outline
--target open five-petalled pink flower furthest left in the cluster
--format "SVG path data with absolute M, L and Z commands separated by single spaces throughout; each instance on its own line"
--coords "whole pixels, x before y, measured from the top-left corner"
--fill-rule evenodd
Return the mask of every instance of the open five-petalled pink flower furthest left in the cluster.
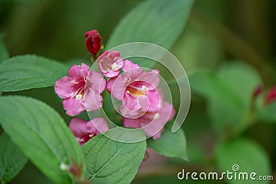
M 55 83 L 55 92 L 63 99 L 63 108 L 69 116 L 84 110 L 95 111 L 102 106 L 101 93 L 106 88 L 106 79 L 100 72 L 89 71 L 88 65 L 72 65 L 68 76 Z

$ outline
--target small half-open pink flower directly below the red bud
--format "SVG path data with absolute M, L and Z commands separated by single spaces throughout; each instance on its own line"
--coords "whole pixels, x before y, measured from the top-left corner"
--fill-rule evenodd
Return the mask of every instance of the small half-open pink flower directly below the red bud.
M 118 76 L 120 69 L 124 65 L 124 60 L 120 57 L 120 52 L 105 51 L 98 58 L 99 68 L 103 75 L 112 78 Z

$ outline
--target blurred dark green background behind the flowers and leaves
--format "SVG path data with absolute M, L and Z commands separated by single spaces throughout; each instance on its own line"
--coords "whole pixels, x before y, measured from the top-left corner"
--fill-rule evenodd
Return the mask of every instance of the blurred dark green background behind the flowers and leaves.
M 140 2 L 0 0 L 0 32 L 4 35 L 11 57 L 38 54 L 64 63 L 89 63 L 84 32 L 97 29 L 105 45 L 121 17 Z M 188 74 L 201 69 L 217 71 L 230 59 L 240 59 L 255 68 L 262 76 L 265 88 L 270 88 L 276 85 L 275 50 L 276 1 L 197 0 L 184 32 L 170 51 L 181 61 Z M 66 122 L 70 120 L 61 110 L 61 101 L 52 87 L 10 94 L 23 94 L 46 101 Z M 165 159 L 150 152 L 149 159 L 143 163 L 133 183 L 184 183 L 176 177 L 184 167 L 189 171 L 216 169 L 212 155 L 218 137 L 210 126 L 206 108 L 205 99 L 192 96 L 190 112 L 183 125 L 189 161 Z M 258 123 L 242 133 L 266 150 L 274 177 L 275 132 L 275 124 Z M 51 182 L 32 163 L 28 163 L 11 183 Z

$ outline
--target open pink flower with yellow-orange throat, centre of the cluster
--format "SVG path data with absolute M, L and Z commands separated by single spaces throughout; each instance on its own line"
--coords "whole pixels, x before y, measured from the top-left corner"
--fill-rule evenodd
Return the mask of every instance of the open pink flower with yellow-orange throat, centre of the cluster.
M 139 65 L 124 61 L 123 74 L 110 79 L 106 89 L 115 99 L 123 101 L 120 111 L 128 118 L 137 118 L 145 112 L 157 112 L 161 99 L 157 91 L 159 71 L 144 72 Z

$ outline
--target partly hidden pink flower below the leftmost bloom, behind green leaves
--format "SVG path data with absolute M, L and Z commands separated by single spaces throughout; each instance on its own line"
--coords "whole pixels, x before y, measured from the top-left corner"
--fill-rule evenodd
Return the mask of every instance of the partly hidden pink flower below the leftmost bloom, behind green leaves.
M 97 136 L 108 130 L 108 123 L 103 118 L 95 118 L 91 121 L 74 118 L 69 123 L 71 132 L 75 135 L 79 145 L 83 145 L 93 136 Z

